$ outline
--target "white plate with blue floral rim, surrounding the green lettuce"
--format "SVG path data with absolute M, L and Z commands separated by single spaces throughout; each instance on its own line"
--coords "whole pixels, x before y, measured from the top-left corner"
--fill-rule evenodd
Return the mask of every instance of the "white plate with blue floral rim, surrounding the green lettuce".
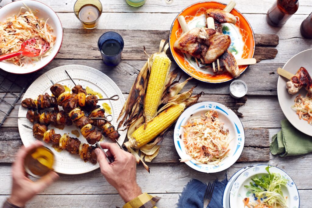
M 251 178 L 258 175 L 268 175 L 266 171 L 267 165 L 257 165 L 255 167 L 249 168 L 242 172 L 234 181 L 231 193 L 230 193 L 230 207 L 244 207 L 243 199 L 245 197 L 249 197 L 249 201 L 256 201 L 255 197 L 251 194 L 249 189 L 245 188 L 245 185 L 249 185 L 251 182 Z M 280 168 L 272 166 L 270 169 L 271 173 L 280 173 L 282 177 L 285 177 L 289 181 L 287 182 L 286 186 L 282 187 L 284 197 L 287 197 L 287 204 L 290 208 L 299 208 L 300 199 L 299 199 L 299 192 L 295 182 L 290 178 L 290 176 L 281 170 Z

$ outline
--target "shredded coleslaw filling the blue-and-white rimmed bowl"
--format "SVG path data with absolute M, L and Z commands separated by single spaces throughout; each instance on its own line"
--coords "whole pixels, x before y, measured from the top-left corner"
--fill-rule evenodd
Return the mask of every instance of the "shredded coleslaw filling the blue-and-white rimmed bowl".
M 227 157 L 230 151 L 229 130 L 218 119 L 217 111 L 208 111 L 205 116 L 190 119 L 183 127 L 185 151 L 198 163 L 214 164 Z M 186 162 L 187 160 L 181 160 Z

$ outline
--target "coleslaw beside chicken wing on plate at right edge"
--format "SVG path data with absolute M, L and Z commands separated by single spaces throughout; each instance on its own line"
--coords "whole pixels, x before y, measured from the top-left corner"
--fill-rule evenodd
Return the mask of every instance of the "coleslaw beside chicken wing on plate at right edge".
M 305 97 L 298 95 L 295 99 L 295 105 L 291 106 L 291 108 L 296 111 L 299 119 L 303 119 L 312 125 L 312 99 L 309 94 Z

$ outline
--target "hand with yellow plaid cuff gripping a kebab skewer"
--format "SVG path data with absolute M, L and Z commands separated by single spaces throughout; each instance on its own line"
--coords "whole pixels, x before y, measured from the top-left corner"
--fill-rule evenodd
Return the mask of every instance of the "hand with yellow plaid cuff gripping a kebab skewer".
M 109 164 L 106 156 L 99 148 L 95 149 L 97 161 L 100 164 L 101 173 L 118 191 L 125 203 L 142 194 L 141 188 L 136 182 L 136 161 L 134 156 L 126 152 L 114 143 L 101 143 L 109 157 L 115 161 Z

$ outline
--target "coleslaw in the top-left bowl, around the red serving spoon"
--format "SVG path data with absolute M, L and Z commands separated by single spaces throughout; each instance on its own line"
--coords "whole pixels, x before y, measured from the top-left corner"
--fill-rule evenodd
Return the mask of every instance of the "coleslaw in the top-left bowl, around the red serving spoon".
M 32 11 L 25 5 L 25 7 L 21 7 L 17 14 L 7 17 L 4 22 L 0 22 L 0 55 L 20 50 L 22 43 L 33 37 L 41 37 L 50 44 L 49 51 L 42 56 L 48 56 L 51 53 L 56 36 L 52 34 L 53 28 L 51 25 L 47 24 L 49 18 L 46 21 L 39 19 L 35 15 L 36 12 L 38 11 Z M 38 44 L 40 44 L 39 41 Z M 38 45 L 36 48 L 41 48 L 41 46 Z M 25 66 L 32 63 L 32 61 L 38 60 L 39 57 L 30 58 L 20 55 L 7 61 L 19 66 Z

